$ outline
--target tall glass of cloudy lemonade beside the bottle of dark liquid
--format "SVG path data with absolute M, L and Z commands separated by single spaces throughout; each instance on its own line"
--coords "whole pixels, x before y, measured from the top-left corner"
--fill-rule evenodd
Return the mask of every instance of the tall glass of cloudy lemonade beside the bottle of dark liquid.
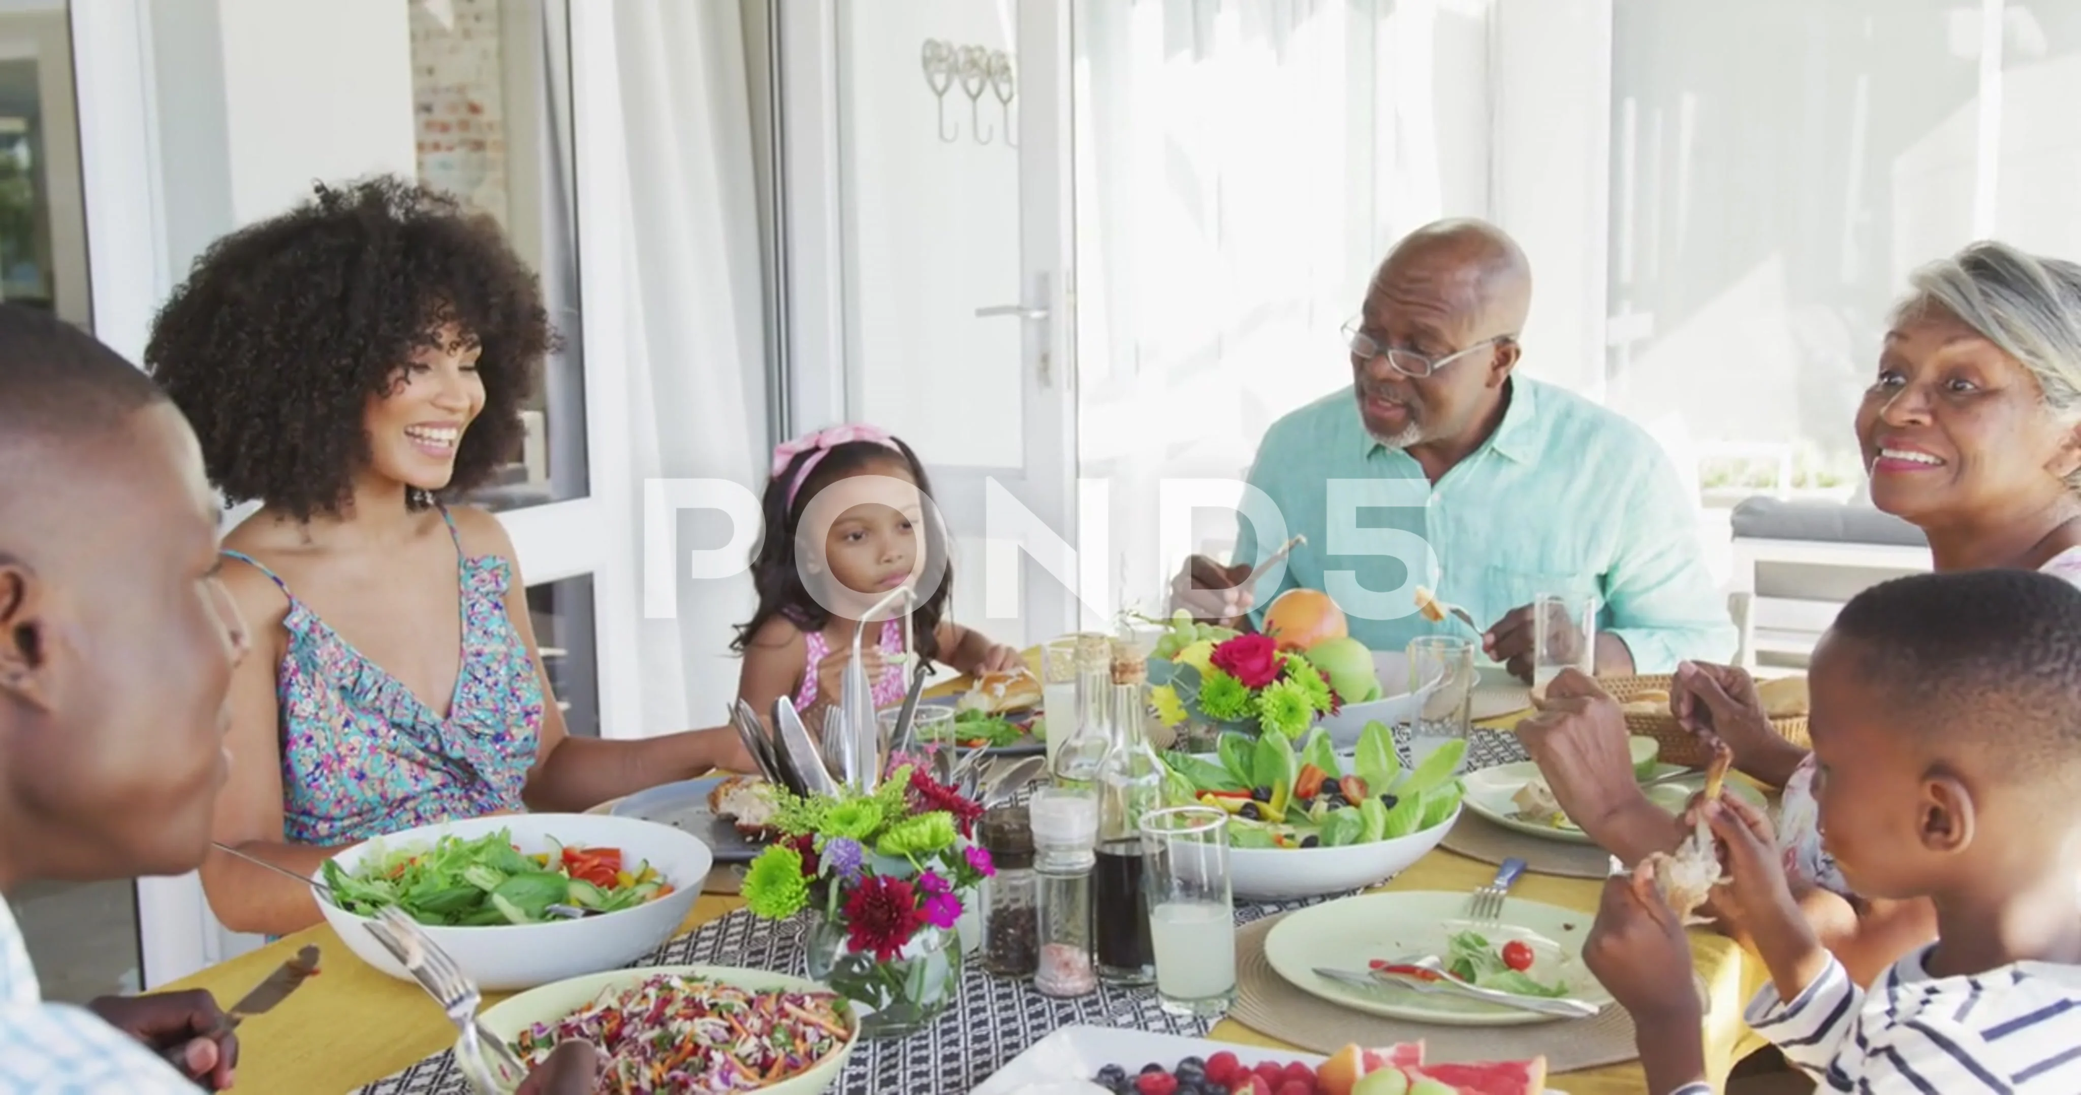
M 1157 1001 L 1180 1016 L 1226 1014 L 1236 1001 L 1228 814 L 1211 806 L 1142 814 L 1142 887 L 1157 958 Z

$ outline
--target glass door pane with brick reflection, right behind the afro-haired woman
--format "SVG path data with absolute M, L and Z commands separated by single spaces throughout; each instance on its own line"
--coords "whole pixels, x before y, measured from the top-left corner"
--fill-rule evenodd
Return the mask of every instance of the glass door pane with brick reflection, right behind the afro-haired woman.
M 408 2 L 418 179 L 497 218 L 541 272 L 564 343 L 522 409 L 522 451 L 470 501 L 518 509 L 585 497 L 568 4 Z

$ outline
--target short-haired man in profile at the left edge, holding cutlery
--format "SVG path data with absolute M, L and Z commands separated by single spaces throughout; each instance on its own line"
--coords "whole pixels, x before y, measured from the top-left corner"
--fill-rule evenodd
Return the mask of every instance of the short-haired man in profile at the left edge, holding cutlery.
M 202 451 L 158 384 L 0 305 L 0 893 L 202 862 L 248 648 L 216 559 Z M 227 1089 L 223 1018 L 202 991 L 46 1004 L 0 902 L 0 1093 Z M 556 1068 L 529 1091 L 591 1091 L 597 1053 Z

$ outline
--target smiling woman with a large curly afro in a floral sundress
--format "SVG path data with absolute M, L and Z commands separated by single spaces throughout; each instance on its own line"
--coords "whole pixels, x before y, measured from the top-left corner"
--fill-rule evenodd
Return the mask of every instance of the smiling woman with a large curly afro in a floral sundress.
M 318 187 L 173 293 L 146 364 L 227 501 L 262 503 L 223 544 L 254 646 L 214 839 L 308 877 L 433 821 L 751 771 L 728 727 L 570 738 L 506 528 L 439 503 L 514 455 L 551 341 L 497 224 L 400 179 Z M 308 885 L 233 856 L 202 885 L 233 931 L 320 918 Z

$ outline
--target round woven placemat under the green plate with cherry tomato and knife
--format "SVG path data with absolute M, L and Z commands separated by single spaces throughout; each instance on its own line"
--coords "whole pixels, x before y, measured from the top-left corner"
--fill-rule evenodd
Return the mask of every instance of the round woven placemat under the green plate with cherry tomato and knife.
M 1380 1018 L 1328 999 L 1303 993 L 1286 983 L 1265 958 L 1265 935 L 1286 914 L 1267 916 L 1236 929 L 1236 1006 L 1228 1018 L 1274 1039 L 1336 1053 L 1346 1045 L 1388 1045 L 1423 1041 L 1423 1058 L 1432 1062 L 1492 1062 L 1546 1058 L 1552 1072 L 1573 1072 L 1602 1064 L 1629 1062 L 1634 1018 L 1625 1008 L 1611 1006 L 1592 1018 L 1536 1022 L 1527 1026 L 1436 1026 Z

